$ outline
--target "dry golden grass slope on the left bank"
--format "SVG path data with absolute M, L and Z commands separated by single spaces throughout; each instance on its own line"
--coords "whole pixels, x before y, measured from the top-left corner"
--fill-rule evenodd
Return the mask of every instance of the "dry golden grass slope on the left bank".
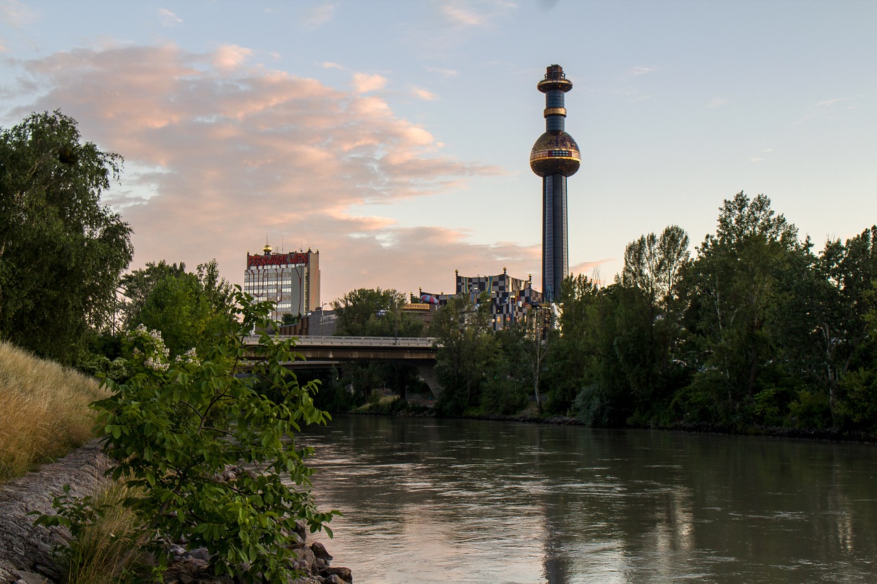
M 97 381 L 0 342 L 0 482 L 93 437 Z

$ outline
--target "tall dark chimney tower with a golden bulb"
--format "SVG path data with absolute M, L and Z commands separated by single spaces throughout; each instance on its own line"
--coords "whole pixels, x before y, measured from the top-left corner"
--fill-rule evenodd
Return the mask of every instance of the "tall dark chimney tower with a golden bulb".
M 564 94 L 573 89 L 560 65 L 545 69 L 537 89 L 545 94 L 545 133 L 530 151 L 530 167 L 542 177 L 542 293 L 553 302 L 567 275 L 567 176 L 581 164 L 579 146 L 564 131 Z

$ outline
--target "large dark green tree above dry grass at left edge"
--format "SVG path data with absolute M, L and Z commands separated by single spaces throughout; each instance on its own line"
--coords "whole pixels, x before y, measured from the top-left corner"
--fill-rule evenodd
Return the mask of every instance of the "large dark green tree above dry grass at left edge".
M 100 196 L 121 165 L 57 110 L 0 130 L 0 338 L 72 363 L 110 322 L 133 251 Z

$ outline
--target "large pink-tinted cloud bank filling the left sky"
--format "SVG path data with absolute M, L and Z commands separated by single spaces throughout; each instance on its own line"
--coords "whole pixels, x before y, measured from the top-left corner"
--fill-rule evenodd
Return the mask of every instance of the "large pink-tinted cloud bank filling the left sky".
M 455 268 L 538 267 L 535 248 L 474 245 L 466 232 L 401 225 L 379 212 L 502 169 L 439 155 L 431 132 L 379 97 L 225 67 L 241 55 L 233 46 L 117 46 L 12 61 L 22 105 L 4 118 L 61 109 L 84 139 L 125 156 L 122 182 L 103 201 L 132 225 L 132 267 L 216 258 L 223 276 L 240 282 L 246 252 L 266 233 L 275 249 L 282 241 L 320 250 L 324 300 L 358 287 L 450 290 Z M 367 77 L 373 86 L 383 79 Z M 441 204 L 422 200 L 424 217 Z

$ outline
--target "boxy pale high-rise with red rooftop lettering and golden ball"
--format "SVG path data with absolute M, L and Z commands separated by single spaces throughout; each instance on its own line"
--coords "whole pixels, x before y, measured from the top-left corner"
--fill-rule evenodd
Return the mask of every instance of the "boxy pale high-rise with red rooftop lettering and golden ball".
M 271 317 L 284 314 L 302 317 L 320 308 L 320 253 L 272 253 L 265 244 L 262 253 L 246 254 L 244 291 L 256 301 L 276 303 Z

